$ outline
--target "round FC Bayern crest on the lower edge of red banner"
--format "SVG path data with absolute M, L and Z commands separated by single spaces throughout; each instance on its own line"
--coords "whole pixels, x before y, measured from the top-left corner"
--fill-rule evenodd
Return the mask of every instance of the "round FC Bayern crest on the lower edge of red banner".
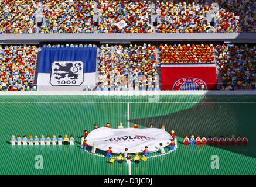
M 199 78 L 182 78 L 175 82 L 173 85 L 173 90 L 207 90 L 207 84 L 202 79 Z

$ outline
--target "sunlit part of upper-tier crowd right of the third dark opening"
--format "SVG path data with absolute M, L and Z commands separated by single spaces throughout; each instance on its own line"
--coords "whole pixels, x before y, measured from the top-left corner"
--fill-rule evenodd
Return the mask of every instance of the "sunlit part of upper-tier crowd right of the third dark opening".
M 241 19 L 224 8 L 217 9 L 204 1 L 189 3 L 179 1 L 157 1 L 156 9 L 161 17 L 158 33 L 211 33 L 243 32 Z M 207 15 L 214 15 L 216 22 L 205 22 Z

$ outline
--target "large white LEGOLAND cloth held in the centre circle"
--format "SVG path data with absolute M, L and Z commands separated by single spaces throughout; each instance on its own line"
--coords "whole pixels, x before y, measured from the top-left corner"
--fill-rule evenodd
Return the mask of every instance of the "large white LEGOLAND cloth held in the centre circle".
M 172 137 L 165 130 L 156 128 L 110 129 L 101 127 L 91 131 L 86 139 L 90 146 L 97 143 L 97 148 L 103 151 L 112 147 L 113 153 L 123 153 L 125 148 L 128 148 L 129 153 L 136 153 L 142 152 L 145 146 L 148 146 L 149 152 L 156 152 L 160 143 L 166 147 L 170 144 Z

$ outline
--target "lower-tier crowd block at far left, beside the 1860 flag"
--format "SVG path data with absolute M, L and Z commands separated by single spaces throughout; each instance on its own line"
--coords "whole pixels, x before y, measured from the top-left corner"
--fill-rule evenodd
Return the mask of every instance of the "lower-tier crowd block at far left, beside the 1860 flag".
M 36 46 L 0 46 L 0 91 L 30 91 L 37 53 Z

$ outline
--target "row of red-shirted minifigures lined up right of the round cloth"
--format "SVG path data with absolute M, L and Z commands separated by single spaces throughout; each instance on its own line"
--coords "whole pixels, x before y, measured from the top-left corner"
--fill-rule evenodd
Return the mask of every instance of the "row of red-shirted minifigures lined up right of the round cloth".
M 200 136 L 197 136 L 196 139 L 194 139 L 194 136 L 192 135 L 189 139 L 188 136 L 185 136 L 183 143 L 185 144 L 185 146 L 206 146 L 206 145 L 213 145 L 213 146 L 234 146 L 234 145 L 244 145 L 246 146 L 248 144 L 248 138 L 247 136 L 244 136 L 244 138 L 241 138 L 241 136 L 237 136 L 237 138 L 235 138 L 234 135 L 231 136 L 231 138 L 227 135 L 225 138 L 224 136 L 220 136 L 220 138 L 217 138 L 217 136 L 214 136 L 213 138 L 211 136 L 209 136 L 207 139 L 205 136 L 202 136 L 202 138 L 200 138 Z

